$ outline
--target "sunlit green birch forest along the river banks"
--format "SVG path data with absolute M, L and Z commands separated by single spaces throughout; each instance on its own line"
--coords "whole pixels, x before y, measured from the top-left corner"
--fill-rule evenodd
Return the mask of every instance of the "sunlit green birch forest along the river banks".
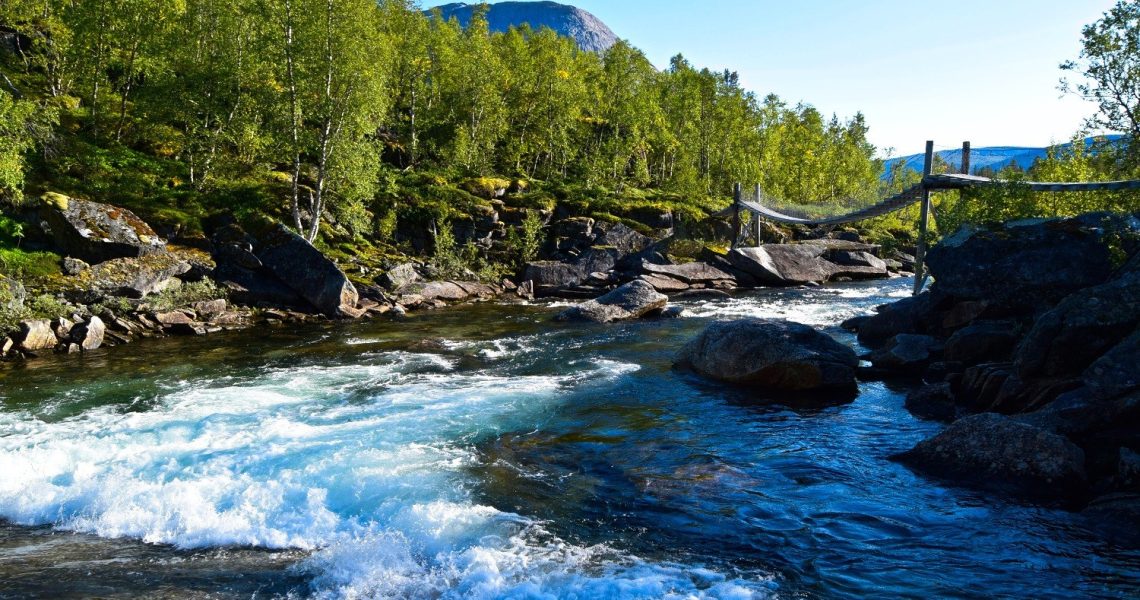
M 1096 78 L 1093 33 L 1065 68 Z M 658 70 L 627 42 L 579 51 L 551 30 L 492 33 L 478 11 L 464 29 L 413 0 L 7 0 L 0 34 L 0 204 L 111 202 L 172 237 L 268 217 L 318 246 L 416 253 L 432 242 L 409 228 L 438 237 L 505 189 L 521 210 L 637 226 L 646 208 L 701 221 L 736 181 L 826 211 L 918 177 L 881 177 L 862 114 L 760 96 L 681 55 Z M 1135 170 L 1126 145 L 1073 147 L 1000 173 L 1015 185 L 984 202 L 939 198 L 940 228 L 1135 208 L 1017 188 Z M 912 241 L 914 218 L 866 227 Z M 0 220 L 5 244 L 18 229 Z

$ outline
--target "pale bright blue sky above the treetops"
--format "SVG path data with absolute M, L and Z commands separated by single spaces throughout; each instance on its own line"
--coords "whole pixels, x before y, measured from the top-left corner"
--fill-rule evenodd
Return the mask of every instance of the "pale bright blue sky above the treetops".
M 447 2 L 426 1 L 425 8 Z M 473 2 L 472 2 L 473 3 Z M 494 3 L 494 2 L 491 2 Z M 1060 97 L 1058 65 L 1113 0 L 563 0 L 659 67 L 683 54 L 759 95 L 866 115 L 895 155 L 1067 140 L 1094 106 Z

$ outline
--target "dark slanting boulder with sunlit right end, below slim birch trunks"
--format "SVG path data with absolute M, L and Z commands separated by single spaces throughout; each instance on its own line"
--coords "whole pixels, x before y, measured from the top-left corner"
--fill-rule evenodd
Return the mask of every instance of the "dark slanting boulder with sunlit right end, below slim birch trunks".
M 344 271 L 284 225 L 261 238 L 258 258 L 317 310 L 331 317 L 359 316 L 359 297 Z

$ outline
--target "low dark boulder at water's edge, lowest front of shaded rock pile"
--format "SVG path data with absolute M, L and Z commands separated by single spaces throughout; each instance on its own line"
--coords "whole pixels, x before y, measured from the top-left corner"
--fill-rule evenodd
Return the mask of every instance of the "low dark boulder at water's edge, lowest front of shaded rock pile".
M 1069 496 L 1085 484 L 1075 444 L 994 413 L 959 419 L 896 457 L 920 472 L 1019 493 Z

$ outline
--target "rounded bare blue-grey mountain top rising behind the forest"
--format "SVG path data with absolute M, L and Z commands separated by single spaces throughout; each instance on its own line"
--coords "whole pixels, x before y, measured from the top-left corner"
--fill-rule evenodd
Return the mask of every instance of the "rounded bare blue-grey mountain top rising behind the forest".
M 455 2 L 439 7 L 445 19 L 455 17 L 467 26 L 471 14 L 480 5 Z M 608 50 L 618 37 L 602 21 L 589 13 L 557 2 L 498 2 L 488 5 L 487 24 L 491 31 L 506 31 L 527 23 L 530 29 L 549 27 L 561 35 L 573 38 L 578 47 L 591 52 Z

